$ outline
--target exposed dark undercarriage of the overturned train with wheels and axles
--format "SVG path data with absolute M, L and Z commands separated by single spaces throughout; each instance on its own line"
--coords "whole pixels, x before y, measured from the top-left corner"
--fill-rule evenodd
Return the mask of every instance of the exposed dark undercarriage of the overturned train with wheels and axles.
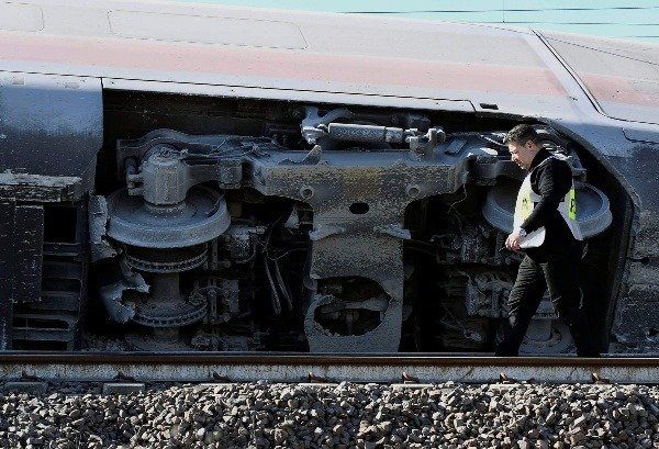
M 93 191 L 4 205 L 44 229 L 40 300 L 16 301 L 5 348 L 491 351 L 522 259 L 502 249 L 524 177 L 502 144 L 516 123 L 105 92 Z M 625 232 L 611 210 L 628 199 L 536 126 L 570 156 L 583 307 L 606 350 Z M 572 349 L 546 298 L 522 352 Z

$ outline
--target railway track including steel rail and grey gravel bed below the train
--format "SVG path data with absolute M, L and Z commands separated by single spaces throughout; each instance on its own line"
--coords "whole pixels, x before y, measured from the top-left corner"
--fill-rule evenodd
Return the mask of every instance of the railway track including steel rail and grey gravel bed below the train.
M 658 448 L 658 379 L 650 357 L 5 352 L 0 447 Z

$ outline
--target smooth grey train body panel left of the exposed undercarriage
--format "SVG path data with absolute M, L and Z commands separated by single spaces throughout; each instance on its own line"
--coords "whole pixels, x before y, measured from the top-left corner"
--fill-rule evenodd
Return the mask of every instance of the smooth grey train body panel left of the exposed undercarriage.
M 64 189 L 63 199 L 93 186 L 103 130 L 99 79 L 0 72 L 0 119 L 3 183 Z

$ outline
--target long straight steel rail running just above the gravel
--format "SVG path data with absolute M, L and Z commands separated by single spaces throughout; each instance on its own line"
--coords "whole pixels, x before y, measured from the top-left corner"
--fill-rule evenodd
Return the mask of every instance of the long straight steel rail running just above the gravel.
M 659 358 L 488 355 L 8 352 L 4 382 L 659 383 Z

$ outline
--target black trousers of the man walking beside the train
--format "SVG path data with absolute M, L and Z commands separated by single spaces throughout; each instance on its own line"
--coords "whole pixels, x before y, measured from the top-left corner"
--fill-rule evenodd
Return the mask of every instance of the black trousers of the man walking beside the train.
M 579 258 L 571 257 L 536 262 L 526 256 L 522 260 L 515 285 L 509 296 L 509 319 L 504 326 L 504 338 L 495 353 L 518 356 L 528 324 L 547 289 L 559 318 L 572 334 L 577 355 L 597 357 L 589 321 L 581 307 Z

